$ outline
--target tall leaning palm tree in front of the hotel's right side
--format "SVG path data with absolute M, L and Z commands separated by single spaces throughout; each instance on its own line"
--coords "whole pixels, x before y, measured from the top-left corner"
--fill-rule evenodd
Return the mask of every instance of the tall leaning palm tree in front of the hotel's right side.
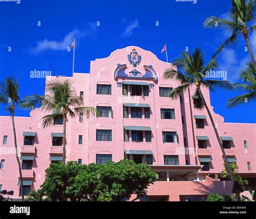
M 204 64 L 204 53 L 199 49 L 196 48 L 193 51 L 193 54 L 187 52 L 181 53 L 181 58 L 174 61 L 173 65 L 176 65 L 178 68 L 181 68 L 184 73 L 178 72 L 177 70 L 174 70 L 173 68 L 166 69 L 164 71 L 164 78 L 165 79 L 174 79 L 180 82 L 180 86 L 173 89 L 173 91 L 170 94 L 170 97 L 176 100 L 180 97 L 182 93 L 184 93 L 187 89 L 190 87 L 195 86 L 196 92 L 194 93 L 194 96 L 198 98 L 199 100 L 199 108 L 200 109 L 206 109 L 208 116 L 210 117 L 215 135 L 217 137 L 221 152 L 223 153 L 223 159 L 225 163 L 227 164 L 228 173 L 230 174 L 230 179 L 232 183 L 234 183 L 232 171 L 229 168 L 227 157 L 223 148 L 223 145 L 221 143 L 218 131 L 215 127 L 213 117 L 211 115 L 211 112 L 206 104 L 205 98 L 203 93 L 201 92 L 201 88 L 208 88 L 211 91 L 214 92 L 214 87 L 221 88 L 221 89 L 233 89 L 233 86 L 228 81 L 220 81 L 220 80 L 208 80 L 207 79 L 207 73 L 210 69 L 214 69 L 217 67 L 217 63 L 215 61 L 215 58 L 213 58 L 207 65 Z

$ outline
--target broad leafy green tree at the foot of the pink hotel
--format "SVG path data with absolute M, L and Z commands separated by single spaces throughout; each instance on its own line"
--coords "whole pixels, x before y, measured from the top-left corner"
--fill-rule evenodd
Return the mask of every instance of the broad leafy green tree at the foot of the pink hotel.
M 52 201 L 120 201 L 130 199 L 132 194 L 138 199 L 156 180 L 149 165 L 133 160 L 107 161 L 103 165 L 70 161 L 67 165 L 51 164 L 45 172 L 41 187 Z

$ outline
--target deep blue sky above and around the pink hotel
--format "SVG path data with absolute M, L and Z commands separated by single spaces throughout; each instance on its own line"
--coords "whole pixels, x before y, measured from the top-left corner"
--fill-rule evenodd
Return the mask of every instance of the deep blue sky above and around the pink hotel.
M 226 17 L 229 0 L 166 1 L 87 1 L 21 0 L 0 2 L 0 75 L 19 77 L 20 96 L 43 94 L 45 79 L 31 79 L 31 70 L 49 70 L 52 75 L 72 75 L 72 51 L 66 51 L 75 37 L 75 72 L 88 73 L 90 60 L 104 58 L 117 48 L 135 45 L 150 50 L 160 60 L 167 44 L 169 61 L 178 58 L 186 47 L 200 47 L 206 61 L 226 39 L 224 30 L 204 29 L 211 15 Z M 38 23 L 40 22 L 40 23 Z M 99 22 L 99 26 L 97 26 Z M 159 26 L 156 26 L 159 22 Z M 39 25 L 40 24 L 40 25 Z M 256 33 L 251 38 L 256 51 Z M 218 58 L 219 69 L 227 71 L 227 80 L 238 82 L 239 71 L 250 60 L 244 38 Z M 8 48 L 11 47 L 11 52 Z M 256 54 L 255 54 L 256 55 Z M 214 111 L 225 122 L 255 123 L 256 105 L 247 103 L 226 109 L 229 98 L 238 91 L 216 90 L 211 93 Z M 0 107 L 0 115 L 8 112 Z M 29 116 L 17 110 L 17 116 Z

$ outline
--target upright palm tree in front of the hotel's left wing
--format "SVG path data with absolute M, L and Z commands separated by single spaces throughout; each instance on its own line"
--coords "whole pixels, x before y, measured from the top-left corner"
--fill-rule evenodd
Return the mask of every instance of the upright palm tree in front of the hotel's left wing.
M 84 107 L 83 100 L 77 96 L 76 90 L 72 87 L 72 80 L 64 81 L 50 80 L 46 82 L 45 95 L 31 95 L 26 100 L 26 108 L 35 109 L 41 105 L 42 110 L 53 111 L 52 114 L 43 117 L 43 128 L 53 124 L 55 118 L 60 115 L 63 118 L 63 164 L 66 158 L 66 118 L 75 117 L 80 113 L 86 112 L 97 115 L 98 111 L 93 107 Z

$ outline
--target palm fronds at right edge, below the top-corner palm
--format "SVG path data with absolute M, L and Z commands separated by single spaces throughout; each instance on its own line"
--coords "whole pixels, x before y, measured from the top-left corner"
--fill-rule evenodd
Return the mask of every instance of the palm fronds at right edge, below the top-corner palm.
M 256 71 L 253 68 L 251 62 L 246 64 L 248 67 L 242 70 L 240 79 L 244 82 L 235 83 L 234 87 L 246 91 L 246 94 L 242 94 L 228 100 L 227 108 L 236 107 L 239 104 L 255 101 L 256 98 Z

